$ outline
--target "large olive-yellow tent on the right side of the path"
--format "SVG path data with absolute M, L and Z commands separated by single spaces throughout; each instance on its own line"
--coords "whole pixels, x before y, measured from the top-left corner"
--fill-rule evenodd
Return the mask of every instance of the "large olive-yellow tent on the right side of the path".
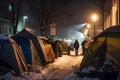
M 81 77 L 117 80 L 120 72 L 120 26 L 111 26 L 90 44 L 76 73 Z

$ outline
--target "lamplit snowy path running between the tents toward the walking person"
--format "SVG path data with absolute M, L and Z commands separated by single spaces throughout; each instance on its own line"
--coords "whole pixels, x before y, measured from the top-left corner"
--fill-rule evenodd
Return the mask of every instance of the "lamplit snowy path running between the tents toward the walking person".
M 76 56 L 74 51 L 71 51 L 70 56 L 64 55 L 56 59 L 54 63 L 47 66 L 49 71 L 44 75 L 45 80 L 70 80 L 74 75 L 74 68 L 79 67 L 83 56 Z

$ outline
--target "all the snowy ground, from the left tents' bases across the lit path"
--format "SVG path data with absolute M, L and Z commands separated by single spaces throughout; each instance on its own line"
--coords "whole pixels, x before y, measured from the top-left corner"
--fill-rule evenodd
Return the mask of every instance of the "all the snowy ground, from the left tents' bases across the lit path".
M 99 78 L 78 77 L 75 70 L 80 67 L 83 56 L 79 50 L 76 56 L 74 51 L 70 55 L 65 53 L 62 57 L 55 59 L 55 62 L 49 63 L 45 67 L 30 66 L 30 70 L 21 73 L 19 76 L 13 75 L 11 72 L 0 77 L 0 80 L 100 80 Z M 4 78 L 4 79 L 3 79 Z

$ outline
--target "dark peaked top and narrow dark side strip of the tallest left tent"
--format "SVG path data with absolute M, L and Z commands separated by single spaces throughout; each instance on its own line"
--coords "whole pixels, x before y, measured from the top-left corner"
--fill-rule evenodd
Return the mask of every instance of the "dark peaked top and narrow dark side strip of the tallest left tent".
M 39 44 L 38 38 L 35 35 L 35 31 L 30 29 L 30 28 L 25 28 L 23 29 L 21 32 L 17 33 L 15 36 L 19 36 L 19 37 L 25 37 L 28 38 L 32 41 L 39 57 L 40 57 L 40 61 L 42 65 L 45 65 L 47 62 L 45 60 L 45 56 L 43 54 L 42 48 Z

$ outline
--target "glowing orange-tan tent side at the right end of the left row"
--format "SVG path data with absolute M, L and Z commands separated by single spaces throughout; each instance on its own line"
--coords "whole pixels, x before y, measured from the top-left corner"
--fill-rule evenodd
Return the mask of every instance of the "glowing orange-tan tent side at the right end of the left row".
M 54 62 L 55 61 L 54 52 L 53 52 L 51 44 L 47 43 L 48 39 L 45 37 L 38 36 L 38 41 L 39 41 L 41 48 L 43 50 L 43 54 L 45 56 L 46 62 L 47 63 Z

